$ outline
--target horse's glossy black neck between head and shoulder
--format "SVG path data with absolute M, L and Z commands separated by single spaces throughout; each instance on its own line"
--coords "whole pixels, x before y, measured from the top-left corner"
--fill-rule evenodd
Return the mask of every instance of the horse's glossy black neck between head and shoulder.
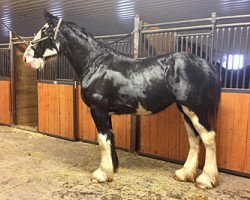
M 91 63 L 99 55 L 105 54 L 104 49 L 92 37 L 80 37 L 74 31 L 67 35 L 68 50 L 66 57 L 79 78 L 89 71 Z

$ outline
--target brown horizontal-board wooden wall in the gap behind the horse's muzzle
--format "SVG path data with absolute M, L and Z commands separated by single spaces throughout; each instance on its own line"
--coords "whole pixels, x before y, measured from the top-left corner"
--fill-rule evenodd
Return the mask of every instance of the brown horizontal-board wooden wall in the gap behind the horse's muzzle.
M 37 126 L 37 77 L 36 70 L 25 66 L 23 52 L 26 45 L 14 46 L 16 124 Z

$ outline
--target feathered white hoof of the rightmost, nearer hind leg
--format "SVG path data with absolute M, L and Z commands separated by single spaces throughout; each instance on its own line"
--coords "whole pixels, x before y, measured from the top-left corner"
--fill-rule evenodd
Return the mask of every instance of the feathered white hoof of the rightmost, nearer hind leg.
M 195 186 L 201 189 L 211 189 L 218 185 L 218 178 L 216 175 L 213 178 L 209 177 L 207 173 L 202 173 L 197 179 Z

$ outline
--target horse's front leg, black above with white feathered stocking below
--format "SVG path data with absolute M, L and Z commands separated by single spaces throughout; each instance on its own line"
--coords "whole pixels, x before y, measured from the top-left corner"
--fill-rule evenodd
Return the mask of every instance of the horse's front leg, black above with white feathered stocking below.
M 98 130 L 98 142 L 101 151 L 101 163 L 92 174 L 92 182 L 112 181 L 118 169 L 118 157 L 115 151 L 111 117 L 105 109 L 91 108 L 91 114 Z

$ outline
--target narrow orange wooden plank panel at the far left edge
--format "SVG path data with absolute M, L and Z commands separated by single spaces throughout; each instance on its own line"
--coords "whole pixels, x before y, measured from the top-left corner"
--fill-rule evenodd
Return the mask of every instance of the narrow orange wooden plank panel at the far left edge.
M 9 80 L 0 80 L 0 124 L 11 124 L 11 92 Z

